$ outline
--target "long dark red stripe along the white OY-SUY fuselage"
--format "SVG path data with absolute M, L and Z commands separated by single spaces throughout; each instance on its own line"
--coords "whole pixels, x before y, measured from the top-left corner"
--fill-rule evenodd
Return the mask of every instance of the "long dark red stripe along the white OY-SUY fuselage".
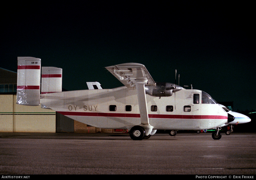
M 125 113 L 90 113 L 90 112 L 64 112 L 58 113 L 65 116 L 98 116 L 98 117 L 140 117 L 140 114 L 125 114 Z M 227 116 L 214 115 L 167 115 L 167 114 L 149 114 L 149 118 L 164 118 L 164 119 L 227 119 Z

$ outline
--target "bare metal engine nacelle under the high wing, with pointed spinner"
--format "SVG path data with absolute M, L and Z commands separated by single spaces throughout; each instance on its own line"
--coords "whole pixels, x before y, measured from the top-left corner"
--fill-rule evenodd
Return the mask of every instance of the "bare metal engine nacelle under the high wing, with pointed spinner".
M 173 92 L 183 89 L 173 83 L 160 83 L 156 82 L 156 85 L 145 86 L 146 94 L 155 97 L 172 96 Z

